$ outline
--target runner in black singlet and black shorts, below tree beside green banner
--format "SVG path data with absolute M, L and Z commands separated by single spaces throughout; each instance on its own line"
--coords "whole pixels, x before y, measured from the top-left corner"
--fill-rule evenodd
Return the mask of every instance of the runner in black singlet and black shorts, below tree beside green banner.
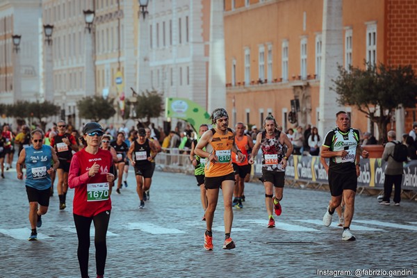
M 146 131 L 142 127 L 138 130 L 139 138 L 133 142 L 127 152 L 127 157 L 135 167 L 136 174 L 136 192 L 140 199 L 139 208 L 145 207 L 144 193 L 151 186 L 152 180 L 152 159 L 155 157 L 151 155 L 158 154 L 158 149 L 154 142 L 146 138 Z M 134 159 L 133 159 L 134 152 Z

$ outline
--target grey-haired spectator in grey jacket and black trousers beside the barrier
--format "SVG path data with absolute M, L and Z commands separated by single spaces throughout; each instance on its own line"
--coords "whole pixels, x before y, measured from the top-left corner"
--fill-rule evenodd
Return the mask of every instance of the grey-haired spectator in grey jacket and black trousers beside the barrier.
M 395 144 L 400 143 L 395 141 L 395 131 L 388 131 L 388 142 L 385 145 L 382 159 L 387 161 L 385 169 L 385 181 L 384 181 L 384 198 L 379 204 L 389 206 L 389 199 L 393 191 L 394 185 L 394 204 L 400 206 L 401 201 L 401 181 L 402 181 L 402 162 L 395 161 L 393 158 Z

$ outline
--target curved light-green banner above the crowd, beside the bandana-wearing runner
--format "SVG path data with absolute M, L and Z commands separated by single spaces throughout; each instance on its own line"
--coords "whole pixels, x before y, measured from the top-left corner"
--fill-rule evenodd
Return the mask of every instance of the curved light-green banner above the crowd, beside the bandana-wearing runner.
M 211 124 L 206 109 L 190 99 L 167 97 L 165 99 L 165 117 L 185 120 L 198 131 L 201 124 Z

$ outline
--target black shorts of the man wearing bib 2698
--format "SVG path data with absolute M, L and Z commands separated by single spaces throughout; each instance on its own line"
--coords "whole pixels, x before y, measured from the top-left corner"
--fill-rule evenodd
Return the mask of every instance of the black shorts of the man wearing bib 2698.
M 329 170 L 329 188 L 332 196 L 340 196 L 343 190 L 353 190 L 356 192 L 358 186 L 358 177 L 356 170 L 348 170 L 345 173 L 334 172 Z

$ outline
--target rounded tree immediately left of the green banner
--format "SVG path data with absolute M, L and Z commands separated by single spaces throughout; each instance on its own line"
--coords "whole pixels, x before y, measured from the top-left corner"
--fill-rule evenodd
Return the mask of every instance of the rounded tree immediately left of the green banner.
M 145 126 L 149 126 L 152 117 L 159 117 L 163 111 L 163 95 L 155 90 L 142 92 L 135 101 L 136 118 L 146 119 Z

